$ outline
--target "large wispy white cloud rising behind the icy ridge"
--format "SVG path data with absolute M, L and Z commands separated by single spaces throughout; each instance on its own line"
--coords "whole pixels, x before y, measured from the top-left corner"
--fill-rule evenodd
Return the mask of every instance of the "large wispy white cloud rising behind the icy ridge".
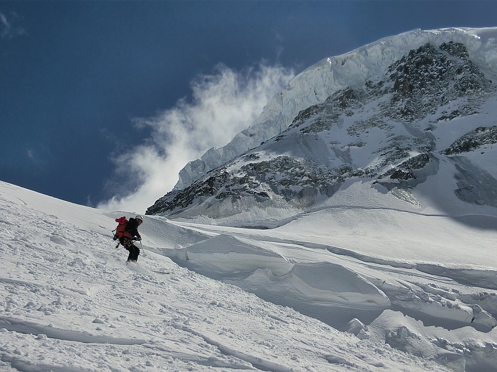
M 242 72 L 219 65 L 214 74 L 199 76 L 191 83 L 191 102 L 181 99 L 156 117 L 136 120 L 139 127 L 152 129 L 150 139 L 113 161 L 117 174 L 139 177 L 138 187 L 98 208 L 143 213 L 174 187 L 188 161 L 211 147 L 226 145 L 253 124 L 293 76 L 291 70 L 265 65 Z

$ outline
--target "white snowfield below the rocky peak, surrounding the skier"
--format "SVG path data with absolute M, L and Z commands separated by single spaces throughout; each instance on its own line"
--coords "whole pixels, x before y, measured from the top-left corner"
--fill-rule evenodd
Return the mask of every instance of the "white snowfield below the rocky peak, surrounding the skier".
M 0 371 L 497 371 L 496 216 L 370 192 L 268 229 L 146 216 L 127 266 L 133 214 L 0 182 Z

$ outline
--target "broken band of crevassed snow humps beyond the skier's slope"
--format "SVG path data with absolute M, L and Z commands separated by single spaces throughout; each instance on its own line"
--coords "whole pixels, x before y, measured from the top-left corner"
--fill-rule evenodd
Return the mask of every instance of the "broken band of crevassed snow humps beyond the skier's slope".
M 305 224 L 299 221 L 286 231 L 304 233 Z M 321 231 L 319 224 L 313 226 L 315 232 Z M 435 226 L 446 228 L 442 224 Z M 371 231 L 381 235 L 381 230 L 376 230 L 380 226 L 371 227 Z M 206 232 L 214 230 L 214 226 L 204 228 Z M 415 234 L 413 231 L 413 236 Z M 493 341 L 485 341 L 486 348 L 490 347 L 494 352 L 484 351 L 485 348 L 472 342 L 465 343 L 467 349 L 464 349 L 446 337 L 451 333 L 465 334 L 467 326 L 476 332 L 489 332 L 497 325 L 494 317 L 497 294 L 487 292 L 489 288 L 496 289 L 492 283 L 495 269 L 468 270 L 466 267 L 368 257 L 322 243 L 284 240 L 277 230 L 257 233 L 258 241 L 253 240 L 252 234 L 252 239 L 248 240 L 248 235 L 244 230 L 225 228 L 218 237 L 184 248 L 183 259 L 175 262 L 239 286 L 260 298 L 296 308 L 361 340 L 377 337 L 377 327 L 380 327 L 384 341 L 393 348 L 436 361 L 453 371 L 465 371 L 466 368 L 467 371 L 478 368 L 487 371 L 485 368 L 491 366 L 491 355 L 496 348 L 494 331 L 490 333 L 494 336 L 488 339 Z M 362 235 L 363 238 L 371 237 Z M 331 239 L 333 236 L 336 237 L 336 233 L 331 234 Z M 408 236 L 403 236 L 402 243 L 407 244 Z M 352 236 L 349 239 L 353 239 Z M 456 236 L 454 240 L 447 240 L 447 247 L 464 257 L 455 244 L 457 239 Z M 485 244 L 483 240 L 481 243 Z M 399 248 L 402 250 L 402 245 Z M 172 251 L 166 250 L 165 254 L 171 255 Z M 334 254 L 330 256 L 326 252 Z M 255 257 L 257 254 L 260 254 L 259 259 Z M 433 254 L 437 256 L 436 251 Z M 316 261 L 319 259 L 323 261 Z M 485 257 L 482 261 L 489 262 Z M 448 284 L 448 281 L 454 282 Z M 458 284 L 454 286 L 455 283 Z M 469 288 L 479 286 L 482 289 L 476 296 L 463 294 Z M 386 308 L 395 311 L 392 313 Z M 399 317 L 399 312 L 404 315 Z M 385 320 L 385 316 L 390 320 Z M 410 320 L 402 321 L 403 317 Z M 385 327 L 385 324 L 389 325 Z M 431 326 L 443 327 L 447 333 L 427 336 L 426 332 L 435 329 Z M 484 339 L 487 338 L 484 336 Z

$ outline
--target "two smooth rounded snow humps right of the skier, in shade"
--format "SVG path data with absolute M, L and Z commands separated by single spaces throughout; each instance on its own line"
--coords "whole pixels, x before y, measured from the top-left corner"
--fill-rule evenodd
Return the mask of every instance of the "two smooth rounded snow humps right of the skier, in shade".
M 246 280 L 251 282 L 251 275 L 266 275 L 266 280 L 274 280 L 273 292 L 298 293 L 302 302 L 344 302 L 353 306 L 388 306 L 390 303 L 378 288 L 340 265 L 330 262 L 290 263 L 272 251 L 271 244 L 254 245 L 244 240 L 222 234 L 185 248 L 183 257 L 188 261 L 187 267 L 217 273 L 218 278 L 243 272 L 250 274 Z M 165 251 L 165 254 L 177 258 L 174 252 Z M 261 268 L 264 268 L 264 274 L 258 272 Z M 237 285 L 244 288 L 242 283 L 237 282 Z

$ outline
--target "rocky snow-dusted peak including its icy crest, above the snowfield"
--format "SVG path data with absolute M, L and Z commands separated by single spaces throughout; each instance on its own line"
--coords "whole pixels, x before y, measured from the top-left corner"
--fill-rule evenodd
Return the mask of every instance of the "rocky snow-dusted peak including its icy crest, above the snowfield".
M 415 30 L 324 60 L 147 213 L 272 226 L 359 182 L 411 210 L 495 216 L 496 40 L 497 28 Z

